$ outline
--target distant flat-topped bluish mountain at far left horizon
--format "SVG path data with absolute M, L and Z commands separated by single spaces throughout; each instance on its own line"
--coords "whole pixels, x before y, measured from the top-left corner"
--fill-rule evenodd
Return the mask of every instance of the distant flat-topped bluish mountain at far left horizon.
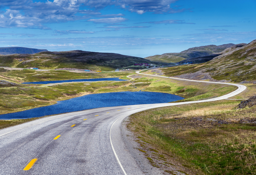
M 46 49 L 32 49 L 27 47 L 0 47 L 0 54 L 1 55 L 9 55 L 15 53 L 22 53 L 22 54 L 32 54 L 38 53 L 42 51 L 48 51 Z

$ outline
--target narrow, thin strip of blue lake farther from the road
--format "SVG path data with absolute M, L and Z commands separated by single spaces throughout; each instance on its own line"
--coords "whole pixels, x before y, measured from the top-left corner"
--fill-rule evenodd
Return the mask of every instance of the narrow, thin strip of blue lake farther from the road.
M 91 78 L 91 79 L 68 79 L 68 80 L 58 80 L 58 81 L 35 81 L 35 82 L 25 82 L 22 84 L 49 84 L 49 83 L 65 83 L 65 82 L 77 82 L 77 81 L 127 81 L 127 79 L 117 78 Z

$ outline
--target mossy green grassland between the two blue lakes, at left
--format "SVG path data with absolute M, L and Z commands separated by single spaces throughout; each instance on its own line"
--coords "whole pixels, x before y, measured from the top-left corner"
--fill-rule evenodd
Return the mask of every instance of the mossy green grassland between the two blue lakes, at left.
M 55 104 L 60 100 L 91 94 L 102 93 L 98 89 L 123 87 L 129 81 L 102 81 L 90 83 L 65 83 L 48 87 L 5 87 L 0 89 L 0 114 L 18 112 L 40 106 Z M 115 92 L 115 91 L 114 91 Z

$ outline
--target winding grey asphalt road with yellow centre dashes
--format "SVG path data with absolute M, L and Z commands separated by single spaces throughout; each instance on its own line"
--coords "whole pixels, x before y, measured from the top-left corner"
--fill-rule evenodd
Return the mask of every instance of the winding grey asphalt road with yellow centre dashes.
M 161 174 L 134 149 L 136 144 L 131 141 L 122 121 L 143 110 L 223 100 L 246 89 L 240 84 L 221 84 L 238 88 L 208 100 L 97 108 L 49 116 L 2 129 L 0 174 Z

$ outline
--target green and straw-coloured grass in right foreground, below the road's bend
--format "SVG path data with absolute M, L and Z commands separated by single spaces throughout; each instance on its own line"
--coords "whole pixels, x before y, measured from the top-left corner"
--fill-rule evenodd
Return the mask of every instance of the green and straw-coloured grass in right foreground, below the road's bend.
M 235 110 L 239 102 L 147 110 L 131 115 L 127 127 L 140 138 L 139 149 L 151 164 L 166 172 L 171 170 L 150 149 L 187 174 L 256 174 L 256 108 Z

